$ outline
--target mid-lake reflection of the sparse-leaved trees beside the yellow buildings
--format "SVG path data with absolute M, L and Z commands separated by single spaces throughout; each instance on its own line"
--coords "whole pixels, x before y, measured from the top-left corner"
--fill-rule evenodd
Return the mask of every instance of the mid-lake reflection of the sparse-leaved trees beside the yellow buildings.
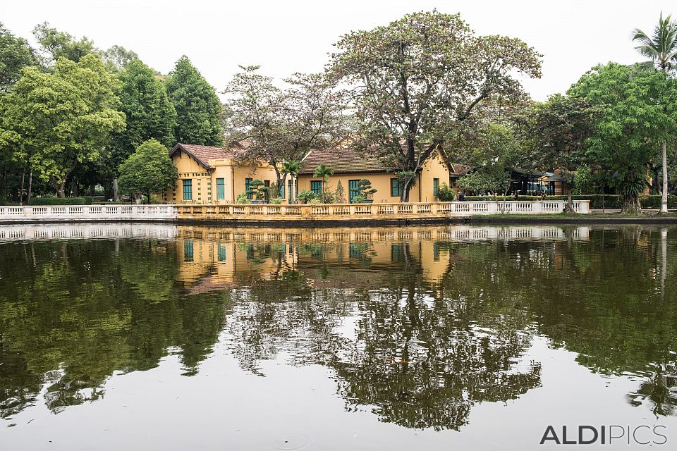
M 539 365 L 518 364 L 529 334 L 504 327 L 502 312 L 479 299 L 431 297 L 420 261 L 408 244 L 397 246 L 399 266 L 382 290 L 311 290 L 296 285 L 300 276 L 246 280 L 251 288 L 233 293 L 228 318 L 241 366 L 262 375 L 258 362 L 280 353 L 324 364 L 348 408 L 374 406 L 382 421 L 415 428 L 459 428 L 473 404 L 539 385 Z M 322 245 L 304 250 L 326 253 Z M 341 319 L 355 312 L 355 338 L 346 338 Z

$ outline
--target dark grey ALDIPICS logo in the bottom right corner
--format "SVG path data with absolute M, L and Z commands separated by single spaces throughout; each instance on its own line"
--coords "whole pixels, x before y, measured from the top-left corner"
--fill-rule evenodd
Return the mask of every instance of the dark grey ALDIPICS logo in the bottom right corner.
M 567 428 L 548 426 L 541 445 L 665 445 L 668 443 L 665 426 L 642 424 L 640 426 L 575 426 Z

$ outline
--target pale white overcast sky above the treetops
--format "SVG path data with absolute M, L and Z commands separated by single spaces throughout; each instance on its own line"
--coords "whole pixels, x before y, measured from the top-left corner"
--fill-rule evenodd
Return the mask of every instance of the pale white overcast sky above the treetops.
M 543 54 L 543 77 L 524 82 L 537 100 L 565 91 L 597 63 L 639 61 L 630 31 L 649 32 L 661 10 L 672 12 L 653 0 L 0 0 L 0 21 L 32 38 L 32 27 L 47 20 L 101 49 L 132 49 L 162 73 L 185 54 L 221 91 L 238 64 L 258 64 L 276 78 L 319 71 L 340 35 L 433 8 L 460 12 L 480 35 L 519 37 Z

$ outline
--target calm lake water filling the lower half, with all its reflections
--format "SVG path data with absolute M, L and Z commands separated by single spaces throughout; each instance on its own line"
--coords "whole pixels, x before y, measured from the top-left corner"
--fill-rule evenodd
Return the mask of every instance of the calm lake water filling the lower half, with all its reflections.
M 671 447 L 676 255 L 645 226 L 2 226 L 0 449 Z

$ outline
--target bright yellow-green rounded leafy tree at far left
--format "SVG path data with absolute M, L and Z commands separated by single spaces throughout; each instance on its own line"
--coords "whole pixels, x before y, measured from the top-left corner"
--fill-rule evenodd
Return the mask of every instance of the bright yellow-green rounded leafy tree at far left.
M 116 82 L 97 56 L 59 58 L 53 73 L 29 67 L 2 97 L 6 140 L 14 159 L 49 180 L 59 197 L 78 164 L 99 158 L 112 132 L 122 130 Z

